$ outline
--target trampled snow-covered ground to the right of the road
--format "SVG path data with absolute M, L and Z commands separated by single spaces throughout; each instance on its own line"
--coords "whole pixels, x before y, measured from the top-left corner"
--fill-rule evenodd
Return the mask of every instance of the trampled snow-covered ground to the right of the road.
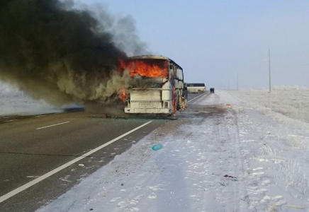
M 205 95 L 38 211 L 309 211 L 308 91 L 281 91 Z

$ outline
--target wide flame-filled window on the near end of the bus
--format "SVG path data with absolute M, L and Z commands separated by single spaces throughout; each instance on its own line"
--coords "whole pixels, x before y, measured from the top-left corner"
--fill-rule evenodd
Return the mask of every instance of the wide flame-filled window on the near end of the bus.
M 131 77 L 169 77 L 169 62 L 166 59 L 130 59 L 126 68 Z

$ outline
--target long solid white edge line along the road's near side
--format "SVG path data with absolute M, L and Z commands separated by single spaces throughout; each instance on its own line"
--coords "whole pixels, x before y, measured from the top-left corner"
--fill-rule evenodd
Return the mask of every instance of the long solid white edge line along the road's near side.
M 111 141 L 108 141 L 107 143 L 104 143 L 103 145 L 97 147 L 97 148 L 94 148 L 93 150 L 89 151 L 88 153 L 85 153 L 84 155 L 82 156 L 79 156 L 78 158 L 75 158 L 74 160 L 71 160 L 69 161 L 68 163 L 65 163 L 64 165 L 61 165 L 60 167 L 57 167 L 55 168 L 55 170 L 52 170 L 50 172 L 47 172 L 45 175 L 42 175 L 36 179 L 33 179 L 33 181 L 30 181 L 26 184 L 24 184 L 23 186 L 21 187 L 18 187 L 17 189 L 14 189 L 13 191 L 9 192 L 8 194 L 4 194 L 3 196 L 0 196 L 0 203 L 5 201 L 6 199 L 9 199 L 11 198 L 12 196 L 15 196 L 16 194 L 20 193 L 20 192 L 23 192 L 23 190 L 26 190 L 28 189 L 29 187 L 32 187 L 33 185 L 37 184 L 38 182 L 41 182 L 43 179 L 46 179 L 47 177 L 50 177 L 52 175 L 54 175 L 55 173 L 57 172 L 60 172 L 61 170 L 63 170 L 64 168 L 66 167 L 69 167 L 70 165 L 74 164 L 74 163 L 77 163 L 77 161 L 79 160 L 82 160 L 84 158 L 86 158 L 87 156 L 95 153 L 96 151 L 99 151 L 101 150 L 101 148 L 104 148 L 108 145 L 110 145 L 111 143 L 115 142 L 115 141 L 118 141 L 119 139 L 122 139 L 124 136 L 128 136 L 128 134 L 131 134 L 133 133 L 133 131 L 137 131 L 137 129 L 140 129 L 142 128 L 143 126 L 146 126 L 147 124 L 150 124 L 152 121 L 150 122 L 146 122 L 145 124 L 142 124 L 140 126 L 137 126 L 135 129 L 132 129 L 128 132 L 126 132 L 125 134 L 122 134 L 121 136 L 118 136 L 116 139 L 113 139 Z

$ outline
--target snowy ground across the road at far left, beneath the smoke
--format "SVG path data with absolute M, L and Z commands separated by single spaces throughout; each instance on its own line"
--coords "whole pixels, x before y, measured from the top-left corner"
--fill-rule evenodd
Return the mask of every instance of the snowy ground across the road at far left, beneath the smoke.
M 23 92 L 0 83 L 0 116 L 62 112 L 43 100 L 33 100 Z

